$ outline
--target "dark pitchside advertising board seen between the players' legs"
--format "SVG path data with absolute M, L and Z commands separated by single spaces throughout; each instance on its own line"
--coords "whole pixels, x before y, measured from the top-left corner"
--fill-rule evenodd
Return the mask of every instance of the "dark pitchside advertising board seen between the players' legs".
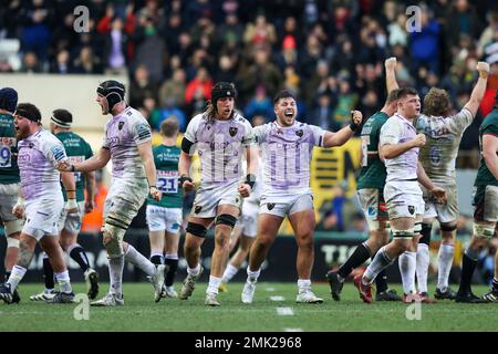
M 133 244 L 142 254 L 149 256 L 149 241 L 147 230 L 129 230 L 125 237 L 125 240 Z M 355 246 L 364 241 L 363 233 L 329 233 L 320 232 L 315 238 L 315 259 L 312 273 L 313 281 L 325 281 L 325 273 L 334 267 L 342 264 L 346 258 L 353 252 Z M 180 239 L 179 247 L 179 270 L 177 274 L 177 281 L 181 280 L 186 275 L 187 263 L 183 257 L 183 242 L 184 237 Z M 107 270 L 107 257 L 102 246 L 102 235 L 97 233 L 80 233 L 79 243 L 82 244 L 89 256 L 90 263 L 98 272 L 98 277 L 102 281 L 108 281 Z M 6 238 L 0 237 L 0 259 L 3 260 L 6 252 Z M 203 267 L 206 270 L 210 269 L 211 258 L 214 249 L 214 238 L 208 236 L 203 244 Z M 295 257 L 298 247 L 293 237 L 279 236 L 277 237 L 267 261 L 263 263 L 263 271 L 261 273 L 261 281 L 289 281 L 295 282 L 298 274 L 295 271 Z M 42 282 L 42 252 L 37 247 L 37 254 L 31 262 L 28 273 L 25 274 L 23 282 Z M 83 274 L 79 269 L 79 266 L 66 256 L 68 267 L 70 270 L 71 280 L 79 282 L 84 281 Z M 243 270 L 239 271 L 234 281 L 246 280 L 247 264 L 243 266 Z M 3 262 L 1 264 L 3 269 Z M 145 281 L 144 273 L 135 269 L 132 264 L 125 263 L 124 269 L 125 281 Z M 203 281 L 207 281 L 209 271 L 205 271 L 203 274 Z M 398 282 L 400 275 L 397 271 L 397 263 L 392 266 L 388 270 L 388 277 L 391 281 Z

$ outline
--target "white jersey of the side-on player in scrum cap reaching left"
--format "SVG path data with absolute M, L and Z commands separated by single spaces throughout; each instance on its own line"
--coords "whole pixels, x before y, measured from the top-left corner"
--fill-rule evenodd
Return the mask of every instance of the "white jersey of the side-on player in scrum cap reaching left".
M 145 178 L 145 167 L 137 146 L 152 140 L 147 121 L 138 111 L 126 107 L 108 119 L 102 147 L 111 150 L 113 177 Z

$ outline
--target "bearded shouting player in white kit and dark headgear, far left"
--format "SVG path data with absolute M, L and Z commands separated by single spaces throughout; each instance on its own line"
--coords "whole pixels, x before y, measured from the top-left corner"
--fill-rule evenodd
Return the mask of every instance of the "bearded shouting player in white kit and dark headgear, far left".
M 20 251 L 7 283 L 0 287 L 0 299 L 12 303 L 13 292 L 24 277 L 34 256 L 37 242 L 49 256 L 60 292 L 48 302 L 69 303 L 74 299 L 68 268 L 59 246 L 59 216 L 64 208 L 61 178 L 65 187 L 68 212 L 77 210 L 74 177 L 60 174 L 56 166 L 68 163 L 64 146 L 48 131 L 41 128 L 40 111 L 30 103 L 21 103 L 14 113 L 14 129 L 19 140 L 18 165 L 21 177 L 19 200 L 12 209 L 18 217 L 25 217 L 20 235 Z

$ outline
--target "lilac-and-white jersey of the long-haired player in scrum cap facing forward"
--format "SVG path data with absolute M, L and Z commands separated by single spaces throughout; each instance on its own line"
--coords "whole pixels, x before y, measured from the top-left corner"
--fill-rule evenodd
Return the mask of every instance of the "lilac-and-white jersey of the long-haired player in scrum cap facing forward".
M 204 187 L 240 180 L 243 148 L 255 144 L 251 124 L 238 113 L 229 121 L 198 114 L 188 124 L 185 138 L 195 144 L 199 154 Z

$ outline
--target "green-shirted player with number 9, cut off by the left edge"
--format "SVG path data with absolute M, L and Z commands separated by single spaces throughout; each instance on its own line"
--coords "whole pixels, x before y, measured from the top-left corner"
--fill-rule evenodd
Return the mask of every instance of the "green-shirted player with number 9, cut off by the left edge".
M 18 92 L 10 87 L 0 90 L 0 217 L 7 237 L 6 281 L 19 254 L 19 235 L 22 221 L 12 215 L 19 194 L 19 167 L 15 155 L 18 144 L 13 124 L 13 113 L 18 104 Z M 13 302 L 19 302 L 15 291 Z

